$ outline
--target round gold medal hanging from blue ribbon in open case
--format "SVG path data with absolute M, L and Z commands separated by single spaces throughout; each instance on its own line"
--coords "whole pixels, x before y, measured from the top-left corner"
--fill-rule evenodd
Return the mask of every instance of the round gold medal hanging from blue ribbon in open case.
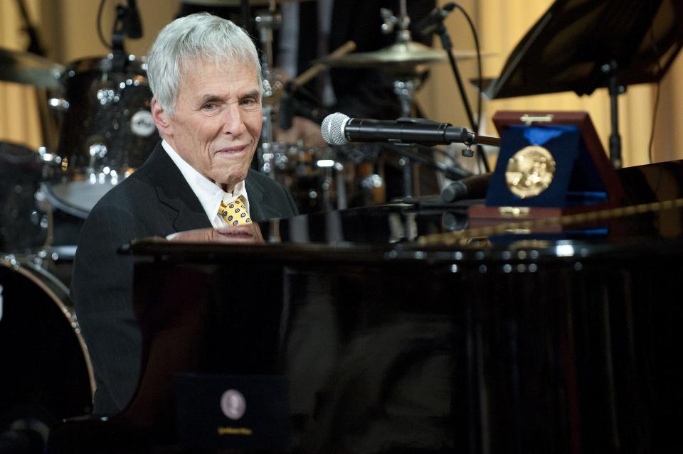
M 520 198 L 536 197 L 548 188 L 555 176 L 555 159 L 539 145 L 525 146 L 507 161 L 507 188 Z

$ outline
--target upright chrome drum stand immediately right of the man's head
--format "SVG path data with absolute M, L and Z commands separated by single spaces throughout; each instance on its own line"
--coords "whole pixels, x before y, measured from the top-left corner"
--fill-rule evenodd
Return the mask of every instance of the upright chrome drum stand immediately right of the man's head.
M 268 10 L 259 11 L 254 18 L 259 40 L 263 49 L 261 53 L 261 78 L 263 92 L 263 124 L 261 127 L 260 146 L 258 148 L 259 171 L 275 177 L 274 159 L 277 144 L 275 143 L 275 106 L 282 94 L 280 75 L 272 70 L 272 31 L 280 28 L 282 16 L 275 9 L 275 0 L 270 0 Z

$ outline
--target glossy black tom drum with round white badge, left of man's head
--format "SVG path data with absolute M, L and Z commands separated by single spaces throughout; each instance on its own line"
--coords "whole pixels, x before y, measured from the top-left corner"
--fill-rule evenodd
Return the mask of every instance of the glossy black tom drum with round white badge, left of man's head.
M 97 200 L 142 166 L 159 141 L 147 85 L 147 67 L 129 55 L 122 70 L 112 58 L 71 63 L 62 76 L 65 95 L 48 200 L 70 215 L 87 217 Z

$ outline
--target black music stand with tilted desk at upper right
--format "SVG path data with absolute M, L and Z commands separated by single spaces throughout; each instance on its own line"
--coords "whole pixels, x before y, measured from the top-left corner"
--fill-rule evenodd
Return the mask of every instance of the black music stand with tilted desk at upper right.
M 610 160 L 621 166 L 618 95 L 659 82 L 683 45 L 683 0 L 556 0 L 517 44 L 488 99 L 610 92 Z

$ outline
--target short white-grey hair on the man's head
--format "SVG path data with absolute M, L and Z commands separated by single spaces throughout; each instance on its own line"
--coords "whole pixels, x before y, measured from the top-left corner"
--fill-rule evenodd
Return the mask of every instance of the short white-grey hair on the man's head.
M 258 53 L 242 28 L 209 13 L 177 18 L 162 28 L 147 55 L 149 89 L 170 115 L 174 114 L 184 67 L 197 59 L 213 59 L 219 67 L 252 64 L 261 86 Z

